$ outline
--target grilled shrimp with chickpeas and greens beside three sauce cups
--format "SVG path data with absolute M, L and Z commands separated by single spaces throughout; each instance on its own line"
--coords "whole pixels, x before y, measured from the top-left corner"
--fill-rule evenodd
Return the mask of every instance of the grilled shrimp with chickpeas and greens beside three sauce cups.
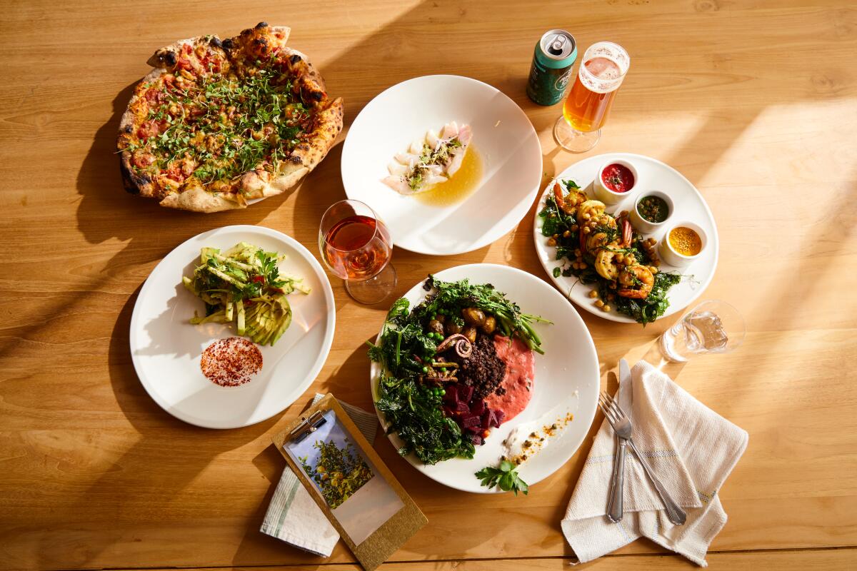
M 616 311 L 647 324 L 669 306 L 668 289 L 680 282 L 660 271 L 653 238 L 634 230 L 627 212 L 608 214 L 572 180 L 556 181 L 544 208 L 542 235 L 556 247 L 554 277 L 574 276 L 591 284 L 590 298 L 602 312 Z

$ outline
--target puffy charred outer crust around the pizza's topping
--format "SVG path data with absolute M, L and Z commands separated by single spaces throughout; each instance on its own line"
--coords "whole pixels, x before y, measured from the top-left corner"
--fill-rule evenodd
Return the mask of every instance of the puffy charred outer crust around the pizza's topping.
M 261 29 L 261 27 L 267 27 L 267 24 L 260 23 L 255 28 L 243 31 L 242 34 L 249 33 L 252 35 L 255 30 Z M 285 47 L 285 41 L 291 33 L 290 27 L 270 27 L 270 30 L 272 33 L 283 33 L 283 39 L 279 40 L 280 51 L 285 51 L 290 57 L 300 58 L 300 62 L 295 61 L 292 66 L 296 80 L 301 82 L 304 93 L 309 93 L 315 96 L 312 97 L 313 99 L 320 101 L 315 106 L 315 127 L 313 131 L 306 134 L 304 140 L 292 150 L 291 156 L 279 165 L 279 170 L 276 173 L 263 169 L 250 170 L 244 173 L 239 185 L 239 196 L 231 192 L 209 192 L 205 187 L 194 186 L 185 188 L 181 192 L 168 194 L 160 200 L 160 205 L 197 212 L 218 212 L 244 208 L 247 205 L 247 200 L 266 199 L 297 186 L 303 177 L 315 169 L 325 158 L 327 152 L 333 148 L 333 144 L 342 130 L 344 107 L 342 98 L 324 101 L 327 98 L 327 92 L 321 74 L 309 62 L 309 58 L 305 54 Z M 161 74 L 169 73 L 168 69 L 177 62 L 178 54 L 182 51 L 183 46 L 195 46 L 200 42 L 207 42 L 216 48 L 224 49 L 221 47 L 223 42 L 217 36 L 197 36 L 180 39 L 171 45 L 166 45 L 155 51 L 153 56 L 148 59 L 147 63 L 154 69 L 141 80 L 138 86 L 156 81 Z M 229 61 L 229 59 L 225 58 L 225 61 Z M 132 130 L 138 123 L 137 120 L 140 119 L 135 114 L 135 103 L 141 97 L 139 93 L 141 92 L 135 90 L 129 101 L 128 109 L 119 122 L 117 146 L 120 148 L 128 145 Z M 321 105 L 325 106 L 320 110 Z M 158 198 L 149 175 L 139 174 L 133 168 L 131 158 L 131 153 L 127 150 L 121 152 L 119 156 L 125 189 L 129 193 L 139 196 Z

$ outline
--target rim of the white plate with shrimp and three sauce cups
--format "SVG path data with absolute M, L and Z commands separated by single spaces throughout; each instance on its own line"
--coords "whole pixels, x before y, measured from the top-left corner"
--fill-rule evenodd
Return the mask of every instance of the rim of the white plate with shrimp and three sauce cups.
M 583 163 L 584 161 L 588 161 L 590 159 L 596 159 L 596 158 L 600 159 L 602 161 L 607 161 L 608 157 L 626 158 L 626 159 L 643 158 L 645 160 L 653 161 L 656 164 L 659 164 L 660 166 L 665 167 L 667 170 L 671 170 L 674 173 L 674 175 L 678 175 L 680 180 L 686 182 L 687 186 L 690 187 L 694 193 L 696 193 L 700 203 L 703 205 L 704 211 L 708 214 L 708 217 L 710 218 L 711 228 L 714 229 L 714 232 L 712 233 L 713 240 L 711 240 L 711 237 L 709 237 L 710 242 L 715 247 L 715 249 L 714 249 L 714 260 L 711 264 L 711 271 L 710 271 L 709 277 L 703 283 L 701 283 L 697 292 L 692 296 L 692 298 L 690 300 L 687 300 L 687 303 L 684 304 L 683 306 L 674 306 L 673 303 L 670 302 L 669 308 L 667 309 L 667 312 L 665 312 L 662 316 L 659 316 L 658 318 L 655 319 L 655 322 L 657 322 L 660 319 L 668 318 L 671 315 L 674 315 L 674 313 L 684 311 L 686 309 L 686 307 L 690 306 L 694 301 L 698 300 L 699 297 L 704 293 L 704 291 L 710 285 L 711 280 L 714 279 L 714 276 L 715 276 L 716 271 L 717 271 L 717 263 L 720 259 L 720 233 L 717 230 L 717 221 L 714 217 L 714 213 L 711 212 L 711 208 L 708 205 L 708 202 L 705 200 L 705 197 L 703 196 L 702 193 L 699 192 L 699 189 L 696 187 L 696 185 L 693 184 L 690 180 L 688 180 L 688 178 L 685 175 L 682 175 L 679 170 L 675 169 L 674 167 L 670 166 L 669 164 L 664 163 L 659 158 L 650 157 L 649 155 L 643 155 L 643 154 L 639 154 L 636 152 L 605 152 L 605 153 L 602 153 L 600 155 L 593 155 L 591 157 L 581 158 L 580 160 L 575 161 L 572 164 L 569 164 L 565 169 L 561 170 L 559 173 L 554 175 L 554 177 L 550 179 L 550 181 L 548 182 L 548 185 L 544 188 L 542 193 L 539 194 L 538 203 L 537 203 L 537 207 L 536 207 L 536 213 L 533 217 L 533 248 L 535 248 L 535 250 L 536 250 L 536 258 L 539 260 L 539 264 L 542 265 L 542 268 L 544 269 L 545 273 L 548 274 L 548 278 L 550 278 L 550 281 L 554 284 L 554 288 L 556 288 L 560 292 L 560 294 L 566 298 L 566 300 L 572 302 L 575 306 L 583 308 L 584 310 L 586 310 L 587 312 L 589 312 L 592 315 L 595 315 L 596 317 L 607 319 L 608 321 L 613 321 L 614 323 L 638 324 L 636 321 L 634 321 L 630 317 L 627 317 L 626 315 L 621 315 L 621 314 L 617 314 L 614 312 L 606 313 L 606 312 L 602 312 L 600 310 L 596 310 L 594 306 L 578 303 L 578 301 L 573 300 L 570 296 L 564 294 L 563 288 L 565 287 L 566 284 L 564 284 L 564 283 L 560 284 L 560 282 L 559 282 L 560 278 L 554 277 L 554 274 L 552 273 L 553 268 L 548 267 L 548 265 L 546 265 L 546 263 L 542 260 L 542 256 L 538 255 L 539 254 L 538 240 L 540 238 L 544 238 L 544 236 L 542 236 L 542 233 L 541 233 L 539 226 L 538 226 L 538 224 L 539 224 L 539 212 L 542 210 L 542 208 L 541 208 L 542 201 L 544 200 L 544 198 L 548 194 L 548 192 L 550 192 L 550 189 L 554 187 L 554 182 L 560 178 L 565 178 L 563 175 L 564 175 L 564 173 L 566 173 L 567 170 L 571 170 L 573 167 L 575 167 L 576 165 L 578 165 L 580 163 Z M 577 282 L 575 282 L 574 285 L 577 285 Z

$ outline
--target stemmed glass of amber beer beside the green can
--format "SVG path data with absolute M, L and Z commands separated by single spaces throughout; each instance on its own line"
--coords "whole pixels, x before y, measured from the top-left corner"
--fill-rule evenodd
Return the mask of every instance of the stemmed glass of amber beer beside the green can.
M 586 152 L 601 139 L 601 128 L 607 120 L 616 91 L 622 85 L 631 58 L 613 42 L 590 45 L 578 68 L 578 77 L 562 116 L 554 125 L 556 142 L 570 152 Z

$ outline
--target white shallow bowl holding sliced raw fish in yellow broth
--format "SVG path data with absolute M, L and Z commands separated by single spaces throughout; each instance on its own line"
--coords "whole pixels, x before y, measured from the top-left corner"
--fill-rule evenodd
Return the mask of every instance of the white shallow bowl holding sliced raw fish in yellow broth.
M 387 187 L 387 164 L 428 129 L 469 123 L 482 159 L 482 182 L 463 201 L 425 205 Z M 470 150 L 468 150 L 470 152 Z M 371 206 L 393 243 L 411 252 L 449 255 L 488 246 L 512 230 L 536 199 L 542 147 L 512 99 L 482 81 L 427 75 L 381 92 L 360 111 L 342 151 L 348 198 Z

